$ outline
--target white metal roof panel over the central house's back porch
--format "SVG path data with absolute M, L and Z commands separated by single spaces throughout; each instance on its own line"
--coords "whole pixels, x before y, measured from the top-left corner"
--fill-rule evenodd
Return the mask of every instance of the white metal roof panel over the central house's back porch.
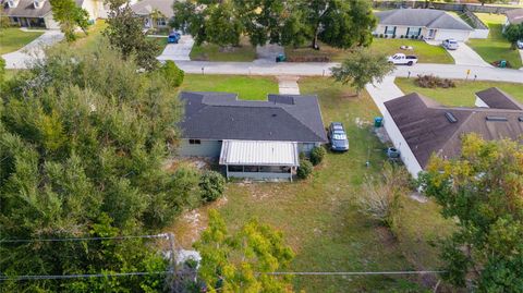
M 297 143 L 223 141 L 220 164 L 300 166 Z

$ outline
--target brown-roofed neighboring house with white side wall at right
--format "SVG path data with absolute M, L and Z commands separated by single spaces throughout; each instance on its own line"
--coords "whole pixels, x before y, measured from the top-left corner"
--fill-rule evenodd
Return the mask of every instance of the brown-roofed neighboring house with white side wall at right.
M 413 93 L 385 102 L 385 127 L 409 172 L 416 178 L 436 154 L 460 155 L 461 137 L 476 133 L 484 139 L 511 138 L 523 143 L 523 106 L 492 87 L 476 93 L 477 108 L 443 107 Z

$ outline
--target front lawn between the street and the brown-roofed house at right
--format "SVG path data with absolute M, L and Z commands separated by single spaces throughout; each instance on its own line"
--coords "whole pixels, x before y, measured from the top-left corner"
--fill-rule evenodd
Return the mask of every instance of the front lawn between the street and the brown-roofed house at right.
M 454 88 L 422 88 L 414 84 L 415 78 L 396 78 L 396 84 L 409 94 L 417 91 L 433 98 L 446 106 L 474 106 L 474 93 L 497 86 L 507 94 L 523 102 L 523 84 L 498 83 L 498 82 L 465 82 L 455 81 Z

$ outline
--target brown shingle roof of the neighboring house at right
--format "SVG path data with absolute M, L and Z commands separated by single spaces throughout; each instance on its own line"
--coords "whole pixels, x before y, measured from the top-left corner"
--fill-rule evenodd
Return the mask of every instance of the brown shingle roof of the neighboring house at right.
M 477 133 L 485 139 L 521 139 L 523 135 L 521 110 L 447 108 L 416 93 L 389 100 L 385 107 L 422 168 L 433 154 L 449 158 L 459 156 L 461 136 L 466 133 Z M 446 113 L 457 121 L 450 122 Z M 489 121 L 487 117 L 502 117 L 507 121 Z

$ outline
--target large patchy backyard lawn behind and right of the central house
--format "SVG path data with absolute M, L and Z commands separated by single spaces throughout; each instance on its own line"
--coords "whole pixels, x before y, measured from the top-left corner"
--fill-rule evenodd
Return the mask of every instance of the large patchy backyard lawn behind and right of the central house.
M 217 77 L 222 78 L 214 76 L 212 80 Z M 191 78 L 186 83 L 191 84 Z M 234 87 L 231 84 L 228 88 L 239 91 L 240 88 Z M 385 161 L 385 146 L 370 132 L 372 121 L 379 112 L 368 95 L 362 93 L 356 98 L 346 86 L 320 77 L 303 78 L 300 87 L 303 94 L 318 95 L 326 124 L 344 123 L 351 149 L 345 154 L 328 152 L 313 178 L 306 181 L 229 183 L 227 199 L 199 209 L 198 221 L 182 217 L 174 223 L 172 231 L 179 243 L 190 247 L 196 237 L 195 231 L 205 228 L 206 210 L 217 207 L 231 229 L 257 217 L 281 230 L 296 253 L 291 271 L 436 268 L 438 252 L 428 241 L 448 231 L 448 222 L 441 219 L 434 204 L 403 198 L 401 222 L 409 222 L 401 225 L 398 240 L 355 207 L 355 198 L 363 196 L 364 176 L 378 175 Z M 369 168 L 365 167 L 367 154 Z M 415 277 L 303 276 L 295 277 L 294 284 L 297 291 L 306 292 L 425 292 L 415 280 Z

